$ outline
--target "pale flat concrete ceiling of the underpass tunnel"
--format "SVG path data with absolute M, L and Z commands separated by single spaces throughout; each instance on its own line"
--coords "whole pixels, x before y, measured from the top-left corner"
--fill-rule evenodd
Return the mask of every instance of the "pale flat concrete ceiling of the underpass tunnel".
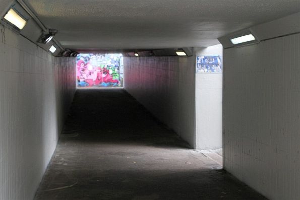
M 300 11 L 300 0 L 26 0 L 65 48 L 180 48 Z

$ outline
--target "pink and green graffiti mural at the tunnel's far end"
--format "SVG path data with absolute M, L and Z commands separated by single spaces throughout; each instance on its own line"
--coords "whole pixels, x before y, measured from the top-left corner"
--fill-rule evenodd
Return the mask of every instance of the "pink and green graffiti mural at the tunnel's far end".
M 76 60 L 77 87 L 123 87 L 122 54 L 81 53 Z

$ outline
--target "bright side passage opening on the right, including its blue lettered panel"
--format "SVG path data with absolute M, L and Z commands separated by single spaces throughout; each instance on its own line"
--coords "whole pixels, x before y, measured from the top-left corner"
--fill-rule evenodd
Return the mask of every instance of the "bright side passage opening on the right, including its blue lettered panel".
M 222 163 L 223 47 L 196 50 L 196 147 Z

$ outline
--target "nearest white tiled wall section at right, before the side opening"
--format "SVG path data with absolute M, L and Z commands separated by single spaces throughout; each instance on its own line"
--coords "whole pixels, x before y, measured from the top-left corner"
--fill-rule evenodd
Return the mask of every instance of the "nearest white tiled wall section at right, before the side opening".
M 300 199 L 300 34 L 224 50 L 224 168 Z

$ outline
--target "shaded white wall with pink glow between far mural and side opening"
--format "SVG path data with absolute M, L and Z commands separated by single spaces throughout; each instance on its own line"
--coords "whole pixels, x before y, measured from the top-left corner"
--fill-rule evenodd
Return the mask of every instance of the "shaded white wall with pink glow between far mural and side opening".
M 195 56 L 124 57 L 125 89 L 195 148 Z

